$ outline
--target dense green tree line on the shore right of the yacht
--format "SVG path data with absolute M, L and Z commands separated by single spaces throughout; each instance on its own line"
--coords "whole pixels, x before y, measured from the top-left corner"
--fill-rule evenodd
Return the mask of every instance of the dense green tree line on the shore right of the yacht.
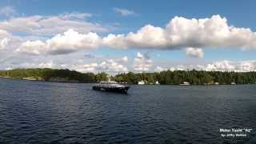
M 204 70 L 165 70 L 159 73 L 117 74 L 114 76 L 117 82 L 138 83 L 146 81 L 154 83 L 158 81 L 164 85 L 178 85 L 182 82 L 189 82 L 192 85 L 208 85 L 218 83 L 221 85 L 231 84 L 254 84 L 256 72 L 234 72 L 234 71 L 204 71 Z

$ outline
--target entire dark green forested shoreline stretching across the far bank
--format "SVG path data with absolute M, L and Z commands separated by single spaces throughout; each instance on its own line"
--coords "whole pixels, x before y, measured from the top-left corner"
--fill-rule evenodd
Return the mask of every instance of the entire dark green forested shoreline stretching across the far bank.
M 46 82 L 84 82 L 92 83 L 106 81 L 108 74 L 105 72 L 80 73 L 75 70 L 57 69 L 15 69 L 0 70 L 0 77 L 20 78 L 27 80 L 38 80 Z M 145 81 L 147 84 L 159 82 L 162 85 L 178 85 L 182 82 L 189 82 L 191 85 L 210 85 L 218 83 L 220 85 L 230 84 L 255 84 L 256 72 L 234 72 L 234 71 L 203 71 L 203 70 L 165 70 L 154 73 L 122 73 L 110 76 L 116 82 L 126 82 L 137 84 Z

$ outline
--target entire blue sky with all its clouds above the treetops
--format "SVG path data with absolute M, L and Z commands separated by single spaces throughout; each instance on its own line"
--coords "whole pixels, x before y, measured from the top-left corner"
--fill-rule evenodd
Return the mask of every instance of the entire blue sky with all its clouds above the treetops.
M 256 70 L 255 1 L 3 0 L 0 70 Z

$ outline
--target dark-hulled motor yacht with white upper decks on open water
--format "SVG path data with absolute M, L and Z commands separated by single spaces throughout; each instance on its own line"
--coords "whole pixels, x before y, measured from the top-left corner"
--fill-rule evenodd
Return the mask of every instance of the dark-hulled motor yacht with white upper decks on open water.
M 93 86 L 93 90 L 127 93 L 130 86 L 124 86 L 115 81 L 101 81 Z

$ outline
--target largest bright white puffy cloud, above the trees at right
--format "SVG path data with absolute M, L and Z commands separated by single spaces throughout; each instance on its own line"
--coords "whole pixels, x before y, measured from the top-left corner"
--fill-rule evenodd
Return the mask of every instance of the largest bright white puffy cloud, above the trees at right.
M 109 34 L 103 42 L 117 48 L 174 50 L 184 47 L 256 48 L 256 34 L 249 28 L 229 26 L 226 18 L 188 19 L 175 17 L 165 28 L 146 25 L 137 32 Z

